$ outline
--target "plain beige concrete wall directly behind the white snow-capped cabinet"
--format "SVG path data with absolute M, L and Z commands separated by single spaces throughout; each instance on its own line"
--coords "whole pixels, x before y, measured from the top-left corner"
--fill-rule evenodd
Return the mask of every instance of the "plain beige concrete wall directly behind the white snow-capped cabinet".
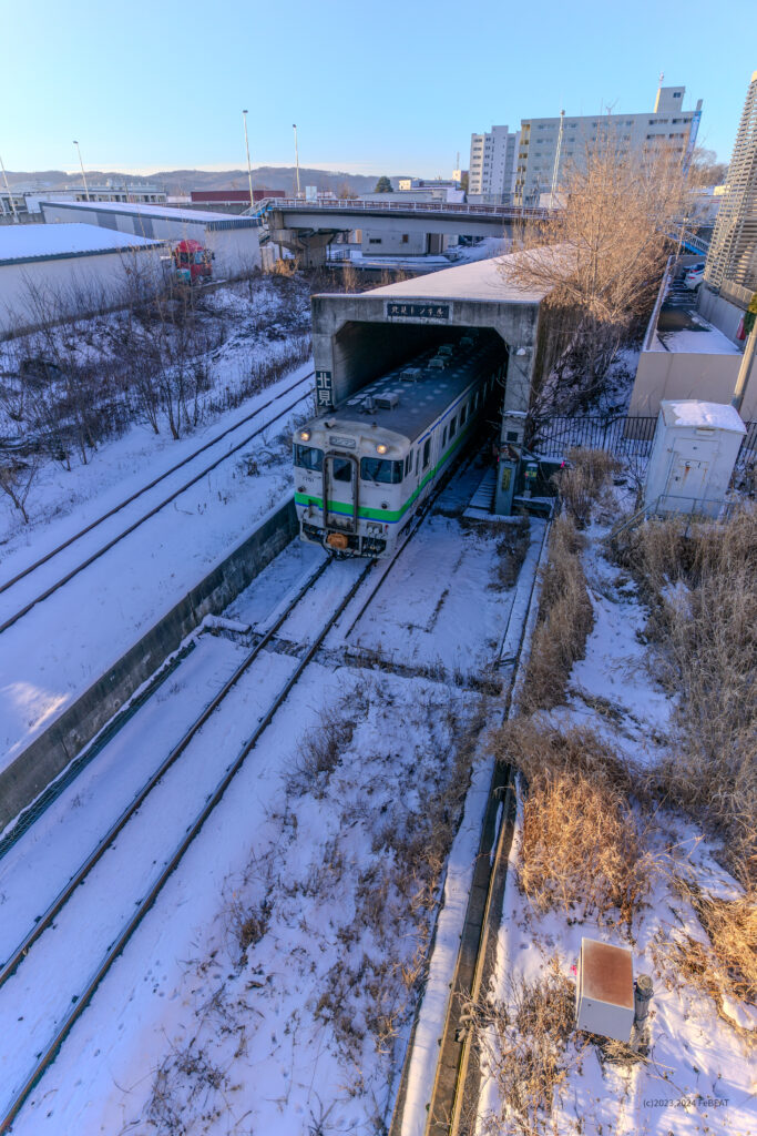
M 642 351 L 631 393 L 630 415 L 657 415 L 663 399 L 730 402 L 741 356 Z M 757 418 L 757 366 L 741 407 L 745 421 Z

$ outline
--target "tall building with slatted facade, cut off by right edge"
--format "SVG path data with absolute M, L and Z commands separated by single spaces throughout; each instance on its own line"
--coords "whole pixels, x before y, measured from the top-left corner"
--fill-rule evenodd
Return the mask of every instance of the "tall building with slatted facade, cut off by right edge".
M 737 302 L 757 291 L 757 72 L 733 144 L 725 193 L 709 242 L 705 284 Z

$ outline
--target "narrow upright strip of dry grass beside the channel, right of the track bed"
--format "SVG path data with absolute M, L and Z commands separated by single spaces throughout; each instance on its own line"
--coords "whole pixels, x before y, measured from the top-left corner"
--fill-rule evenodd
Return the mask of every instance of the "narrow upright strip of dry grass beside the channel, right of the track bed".
M 594 611 L 581 563 L 582 541 L 570 517 L 556 518 L 549 537 L 549 560 L 542 574 L 539 620 L 520 699 L 520 708 L 527 715 L 564 702 L 571 668 L 586 651 Z

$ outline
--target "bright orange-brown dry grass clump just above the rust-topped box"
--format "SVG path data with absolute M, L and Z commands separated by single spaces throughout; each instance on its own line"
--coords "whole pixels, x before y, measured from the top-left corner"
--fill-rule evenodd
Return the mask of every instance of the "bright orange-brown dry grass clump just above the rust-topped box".
M 528 780 L 518 876 L 537 911 L 630 927 L 655 861 L 629 769 L 589 729 L 523 718 L 497 730 L 494 749 Z

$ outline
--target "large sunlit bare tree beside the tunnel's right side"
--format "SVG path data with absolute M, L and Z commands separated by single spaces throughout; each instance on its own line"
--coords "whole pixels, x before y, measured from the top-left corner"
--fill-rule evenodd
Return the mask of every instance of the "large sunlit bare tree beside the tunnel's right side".
M 563 325 L 563 371 L 584 401 L 648 318 L 684 194 L 680 154 L 629 156 L 607 131 L 565 170 L 560 208 L 516 234 L 503 272 L 516 287 L 546 293 Z

